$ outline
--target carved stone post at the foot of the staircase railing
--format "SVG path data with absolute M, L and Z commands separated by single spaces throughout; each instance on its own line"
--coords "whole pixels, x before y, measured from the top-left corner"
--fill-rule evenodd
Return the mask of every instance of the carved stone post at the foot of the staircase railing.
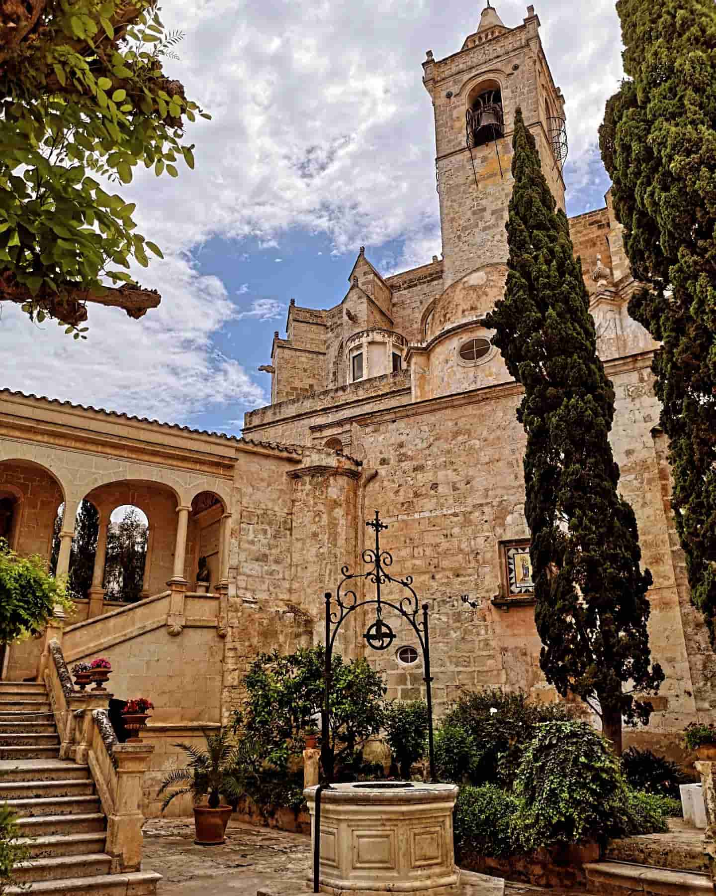
M 153 752 L 154 747 L 149 744 L 117 744 L 112 751 L 117 786 L 114 810 L 107 813 L 105 849 L 112 857 L 111 870 L 115 874 L 139 871 L 141 867 L 142 780 Z

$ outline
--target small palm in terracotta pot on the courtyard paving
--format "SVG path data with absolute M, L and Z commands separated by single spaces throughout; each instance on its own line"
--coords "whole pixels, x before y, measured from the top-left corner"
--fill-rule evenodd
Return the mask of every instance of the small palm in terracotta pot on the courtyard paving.
M 189 744 L 175 744 L 189 756 L 189 762 L 182 769 L 170 771 L 162 781 L 159 794 L 166 793 L 162 803 L 165 811 L 175 797 L 191 794 L 194 801 L 194 843 L 199 846 L 218 846 L 226 842 L 226 824 L 231 815 L 231 806 L 221 806 L 221 797 L 226 796 L 234 767 L 235 746 L 229 728 L 220 728 L 216 734 L 207 734 L 206 749 L 201 750 Z M 169 791 L 168 788 L 175 788 Z M 197 804 L 208 797 L 206 806 Z

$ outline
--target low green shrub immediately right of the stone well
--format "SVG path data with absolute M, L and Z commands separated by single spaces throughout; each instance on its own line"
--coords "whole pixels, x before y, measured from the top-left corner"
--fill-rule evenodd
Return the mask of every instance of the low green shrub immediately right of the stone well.
M 515 852 L 511 827 L 518 808 L 516 798 L 494 784 L 461 787 L 453 822 L 456 861 L 511 856 Z

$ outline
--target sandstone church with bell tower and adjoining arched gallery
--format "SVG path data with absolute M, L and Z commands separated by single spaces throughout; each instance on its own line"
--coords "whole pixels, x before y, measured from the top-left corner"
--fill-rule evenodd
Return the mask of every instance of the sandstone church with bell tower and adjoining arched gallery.
M 275 333 L 260 368 L 271 375 L 271 404 L 246 414 L 242 437 L 0 392 L 0 524 L 20 553 L 43 556 L 55 530 L 62 574 L 77 508 L 97 508 L 91 587 L 63 621 L 64 654 L 72 662 L 101 652 L 117 696 L 154 702 L 157 779 L 178 734 L 191 740 L 227 718 L 260 650 L 322 642 L 324 594 L 335 592 L 343 567 L 364 572 L 373 538 L 365 521 L 376 511 L 388 527 L 381 547 L 392 574 L 412 576 L 430 607 L 436 712 L 485 686 L 559 699 L 541 674 L 533 618 L 521 387 L 484 320 L 507 276 L 516 108 L 564 208 L 565 98 L 533 6 L 523 22 L 505 24 L 488 4 L 476 24 L 455 53 L 436 59 L 429 50 L 422 62 L 441 257 L 384 277 L 361 247 L 334 306 L 292 299 L 286 333 Z M 425 125 L 428 139 L 427 115 Z M 716 705 L 716 662 L 690 604 L 670 512 L 652 389 L 657 346 L 627 313 L 638 284 L 609 194 L 604 208 L 569 224 L 617 396 L 611 444 L 652 571 L 652 654 L 667 676 L 649 727 L 627 729 L 625 745 L 677 756 L 680 731 Z M 104 574 L 110 516 L 124 504 L 149 521 L 141 599 L 132 604 L 111 599 Z M 197 580 L 200 558 L 208 584 Z M 410 626 L 390 619 L 395 640 L 373 651 L 364 636 L 371 619 L 354 616 L 338 642 L 343 654 L 370 659 L 388 697 L 421 697 Z M 35 676 L 41 652 L 41 639 L 13 645 L 3 677 Z M 145 810 L 156 814 L 150 785 Z

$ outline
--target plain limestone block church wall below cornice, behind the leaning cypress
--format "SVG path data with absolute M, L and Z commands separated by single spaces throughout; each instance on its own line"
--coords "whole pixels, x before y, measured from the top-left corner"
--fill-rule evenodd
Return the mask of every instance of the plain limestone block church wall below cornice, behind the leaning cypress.
M 618 397 L 612 444 L 622 472 L 620 487 L 634 506 L 644 564 L 654 577 L 652 650 L 668 678 L 648 731 L 626 740 L 673 752 L 678 730 L 695 718 L 695 689 L 703 701 L 710 692 L 707 696 L 708 689 L 695 681 L 699 663 L 690 667 L 687 656 L 651 434 L 659 409 L 649 361 L 646 356 L 608 368 Z M 524 432 L 515 418 L 519 399 L 515 386 L 493 386 L 479 397 L 434 400 L 431 410 L 423 403 L 420 413 L 405 407 L 400 413 L 376 414 L 361 427 L 365 466 L 378 470 L 366 487 L 364 507 L 379 509 L 388 521 L 383 544 L 393 553 L 396 571 L 412 574 L 421 600 L 430 601 L 438 711 L 461 690 L 483 685 L 523 687 L 549 699 L 539 669 L 533 607 L 506 612 L 491 603 L 503 582 L 501 543 L 528 537 Z M 466 607 L 462 595 L 476 601 L 477 609 Z M 399 620 L 396 632 L 395 650 L 414 642 Z M 389 695 L 413 699 L 422 693 L 422 672 L 401 665 L 394 650 L 378 659 L 370 650 L 367 655 L 388 675 Z

